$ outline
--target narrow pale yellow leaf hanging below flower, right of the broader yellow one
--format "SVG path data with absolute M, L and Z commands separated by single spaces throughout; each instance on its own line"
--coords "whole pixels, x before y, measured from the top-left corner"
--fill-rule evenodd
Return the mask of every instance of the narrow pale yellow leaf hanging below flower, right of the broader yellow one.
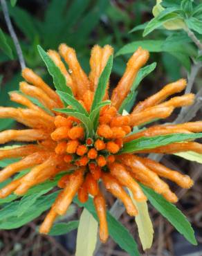
M 138 234 L 141 244 L 143 246 L 143 250 L 146 250 L 152 247 L 152 241 L 154 237 L 154 229 L 152 225 L 152 220 L 149 217 L 147 202 L 136 201 L 130 190 L 129 194 L 138 210 L 138 215 L 135 217 L 135 220 L 138 226 Z

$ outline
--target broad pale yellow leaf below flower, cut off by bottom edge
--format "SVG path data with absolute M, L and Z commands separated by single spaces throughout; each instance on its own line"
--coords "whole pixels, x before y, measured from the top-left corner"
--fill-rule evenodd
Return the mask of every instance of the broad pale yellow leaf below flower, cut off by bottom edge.
M 75 256 L 93 256 L 98 236 L 98 222 L 84 209 L 77 230 Z

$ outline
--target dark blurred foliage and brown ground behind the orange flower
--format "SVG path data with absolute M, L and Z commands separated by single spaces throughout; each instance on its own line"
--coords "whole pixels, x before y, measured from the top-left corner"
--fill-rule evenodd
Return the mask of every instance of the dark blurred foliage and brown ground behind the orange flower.
M 10 4 L 11 2 L 11 4 Z M 174 1 L 175 2 L 175 1 Z M 33 68 L 44 80 L 51 84 L 46 68 L 37 51 L 37 44 L 44 49 L 57 49 L 60 43 L 66 43 L 77 51 L 77 57 L 84 70 L 89 72 L 90 49 L 94 44 L 111 44 L 117 53 L 123 46 L 131 42 L 143 42 L 143 28 L 140 26 L 152 19 L 152 8 L 156 1 L 149 0 L 18 0 L 8 1 L 8 9 L 12 24 L 21 44 L 26 65 Z M 15 5 L 15 6 L 14 6 Z M 134 27 L 133 33 L 129 33 Z M 5 19 L 0 9 L 0 28 L 6 38 L 11 51 L 0 50 L 1 73 L 1 106 L 13 106 L 10 102 L 8 91 L 18 90 L 21 78 L 21 68 L 17 60 L 15 46 L 9 36 Z M 150 73 L 138 88 L 138 100 L 143 100 L 162 88 L 167 82 L 187 77 L 190 71 L 196 47 L 183 32 L 176 32 L 160 28 L 151 33 L 147 39 L 162 40 L 167 42 L 170 37 L 184 36 L 180 47 L 169 51 L 153 51 L 149 64 L 157 62 L 155 70 Z M 169 42 L 167 43 L 169 46 Z M 169 47 L 168 47 L 169 48 Z M 134 49 L 135 50 L 135 49 Z M 116 85 L 125 70 L 129 54 L 120 54 L 115 57 L 113 73 L 111 75 L 111 88 Z M 196 77 L 193 92 L 197 93 L 201 88 L 201 73 Z M 175 120 L 178 111 L 174 112 L 169 121 Z M 201 120 L 201 111 L 197 112 L 194 120 Z M 19 124 L 13 120 L 0 120 L 0 130 L 10 127 L 17 128 Z M 194 230 L 199 246 L 188 244 L 174 228 L 169 225 L 158 212 L 150 207 L 150 214 L 154 221 L 154 244 L 146 253 L 143 252 L 134 219 L 126 213 L 122 214 L 120 221 L 131 232 L 138 242 L 142 255 L 202 255 L 202 182 L 201 166 L 195 162 L 189 162 L 178 156 L 165 156 L 161 163 L 173 170 L 181 170 L 189 174 L 195 180 L 191 190 L 172 188 L 181 200 L 178 208 L 188 217 Z M 1 166 L 2 167 L 2 166 Z M 114 199 L 107 195 L 107 204 L 110 208 Z M 72 205 L 71 210 L 64 217 L 66 221 L 78 219 L 82 209 Z M 37 226 L 44 218 L 45 213 L 22 228 L 15 230 L 0 230 L 0 255 L 1 256 L 48 256 L 74 255 L 76 231 L 67 235 L 51 237 L 37 233 Z M 98 256 L 127 256 L 112 239 L 104 244 Z M 88 256 L 88 255 L 84 255 Z

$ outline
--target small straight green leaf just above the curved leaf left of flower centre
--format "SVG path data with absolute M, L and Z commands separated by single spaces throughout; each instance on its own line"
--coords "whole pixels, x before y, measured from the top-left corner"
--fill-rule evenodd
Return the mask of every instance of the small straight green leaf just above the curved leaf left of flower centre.
M 60 98 L 67 104 L 73 107 L 76 111 L 83 113 L 86 116 L 89 116 L 89 113 L 84 109 L 82 104 L 76 100 L 73 96 L 69 95 L 68 93 L 64 93 L 62 91 L 56 91 Z

